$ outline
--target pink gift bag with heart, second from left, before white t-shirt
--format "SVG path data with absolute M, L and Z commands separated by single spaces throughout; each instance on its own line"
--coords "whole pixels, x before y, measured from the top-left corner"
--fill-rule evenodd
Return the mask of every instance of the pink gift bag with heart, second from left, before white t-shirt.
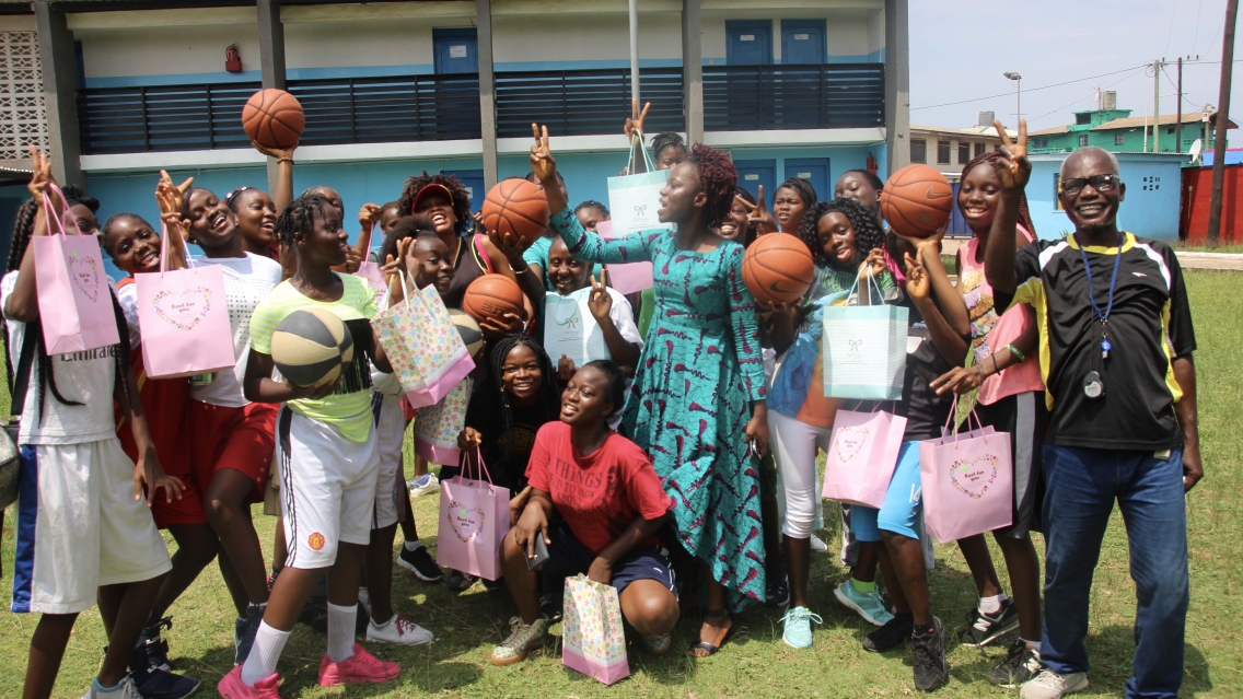
M 149 378 L 175 378 L 232 369 L 232 328 L 220 265 L 168 267 L 168 226 L 163 226 L 159 271 L 134 275 L 143 366 Z

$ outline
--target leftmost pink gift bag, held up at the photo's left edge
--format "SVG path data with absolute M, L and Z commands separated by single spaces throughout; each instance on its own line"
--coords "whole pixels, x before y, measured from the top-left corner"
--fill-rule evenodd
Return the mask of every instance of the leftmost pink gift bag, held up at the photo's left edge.
M 111 347 L 121 342 L 121 336 L 99 239 L 82 235 L 77 219 L 63 205 L 65 195 L 55 184 L 48 187 L 60 194 L 61 206 L 53 206 L 44 193 L 47 235 L 31 240 L 44 346 L 48 354 Z M 66 233 L 66 219 L 73 224 L 76 235 Z

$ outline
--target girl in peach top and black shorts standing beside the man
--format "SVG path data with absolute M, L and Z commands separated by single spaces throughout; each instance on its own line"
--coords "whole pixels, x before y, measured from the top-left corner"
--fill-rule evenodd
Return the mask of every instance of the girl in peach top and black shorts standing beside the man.
M 1001 159 L 1001 153 L 984 153 L 962 169 L 958 209 L 973 234 L 958 249 L 958 291 L 971 318 L 970 366 L 948 372 L 935 384 L 940 392 L 967 394 L 963 400 L 975 394 L 979 422 L 1012 435 L 1013 524 L 993 531 L 993 537 L 1006 557 L 1014 597 L 1008 598 L 1001 586 L 984 536 L 958 541 L 979 591 L 979 602 L 967 612 L 958 638 L 963 646 L 982 647 L 1018 628 L 1006 660 L 988 674 L 993 684 L 1017 687 L 1040 667 L 1040 562 L 1028 532 L 1039 531 L 1044 481 L 1040 449 L 1048 417 L 1039 359 L 1034 356 L 1034 313 L 1027 305 L 1006 310 L 1009 295 L 994 291 L 984 276 L 984 249 L 1002 195 L 997 174 Z M 1016 249 L 1035 239 L 1023 194 L 1012 235 Z

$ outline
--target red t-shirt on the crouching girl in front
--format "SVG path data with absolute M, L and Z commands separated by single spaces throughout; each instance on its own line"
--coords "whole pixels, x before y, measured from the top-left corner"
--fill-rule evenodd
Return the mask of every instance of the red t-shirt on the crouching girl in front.
M 599 449 L 583 456 L 561 420 L 536 434 L 527 480 L 552 495 L 574 537 L 594 553 L 622 536 L 635 517 L 663 517 L 670 506 L 651 461 L 634 442 L 610 433 Z

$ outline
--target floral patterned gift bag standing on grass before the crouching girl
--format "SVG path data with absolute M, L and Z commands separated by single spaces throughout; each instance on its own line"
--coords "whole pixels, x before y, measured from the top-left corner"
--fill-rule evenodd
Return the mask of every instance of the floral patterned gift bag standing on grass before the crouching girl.
M 612 585 L 583 575 L 567 577 L 561 636 L 561 662 L 567 668 L 604 684 L 630 677 L 622 603 Z

